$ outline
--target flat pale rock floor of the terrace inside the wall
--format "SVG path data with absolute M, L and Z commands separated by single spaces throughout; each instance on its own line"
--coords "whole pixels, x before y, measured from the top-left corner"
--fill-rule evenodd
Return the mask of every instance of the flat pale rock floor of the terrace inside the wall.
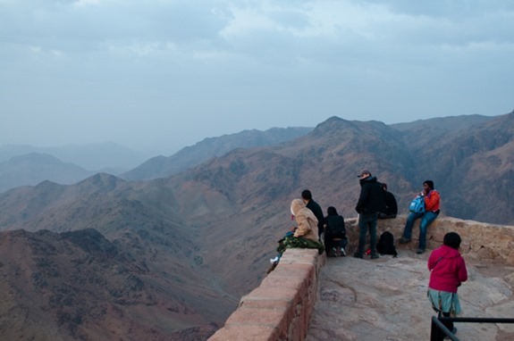
M 322 269 L 308 341 L 429 340 L 434 312 L 426 298 L 429 252 L 398 258 L 329 258 Z M 466 259 L 466 257 L 465 257 Z M 460 317 L 514 318 L 514 268 L 468 260 Z M 513 324 L 456 323 L 460 340 L 514 339 Z

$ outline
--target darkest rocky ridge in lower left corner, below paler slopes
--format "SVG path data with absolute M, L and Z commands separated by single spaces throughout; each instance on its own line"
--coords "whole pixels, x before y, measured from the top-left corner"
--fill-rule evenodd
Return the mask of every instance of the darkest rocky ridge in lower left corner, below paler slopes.
M 181 340 L 212 333 L 201 298 L 213 294 L 201 280 L 164 264 L 159 270 L 167 275 L 155 276 L 145 257 L 151 250 L 142 247 L 137 258 L 125 250 L 95 229 L 3 232 L 2 339 Z M 179 295 L 181 281 L 190 280 L 195 295 Z M 204 327 L 190 327 L 192 321 Z

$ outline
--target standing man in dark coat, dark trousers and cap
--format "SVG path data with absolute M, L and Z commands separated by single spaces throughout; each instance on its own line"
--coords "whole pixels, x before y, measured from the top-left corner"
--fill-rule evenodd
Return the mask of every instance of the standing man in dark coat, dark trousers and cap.
M 358 212 L 358 251 L 353 256 L 356 258 L 364 256 L 364 246 L 369 230 L 371 259 L 376 259 L 380 257 L 376 252 L 376 222 L 378 212 L 385 209 L 385 196 L 383 195 L 382 185 L 376 177 L 371 176 L 369 170 L 362 170 L 358 178 L 360 179 L 360 195 L 355 207 Z

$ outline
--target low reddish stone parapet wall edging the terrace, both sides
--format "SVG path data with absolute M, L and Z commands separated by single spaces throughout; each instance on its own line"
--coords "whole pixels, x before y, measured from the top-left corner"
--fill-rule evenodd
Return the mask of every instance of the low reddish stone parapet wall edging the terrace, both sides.
M 377 235 L 389 230 L 398 240 L 406 219 L 407 216 L 399 216 L 379 220 Z M 347 254 L 351 256 L 358 244 L 357 219 L 345 222 L 349 237 Z M 419 220 L 414 226 L 412 241 L 397 248 L 417 248 L 418 226 Z M 462 238 L 460 252 L 465 259 L 514 265 L 514 227 L 440 217 L 428 228 L 427 248 L 442 245 L 442 237 L 451 231 Z M 324 255 L 318 255 L 317 250 L 287 250 L 276 269 L 259 287 L 241 298 L 238 309 L 226 320 L 223 329 L 209 340 L 304 340 L 324 262 Z

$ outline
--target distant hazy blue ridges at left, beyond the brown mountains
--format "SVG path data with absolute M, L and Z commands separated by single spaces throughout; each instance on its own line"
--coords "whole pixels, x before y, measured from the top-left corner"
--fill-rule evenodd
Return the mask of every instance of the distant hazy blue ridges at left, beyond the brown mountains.
M 159 155 L 145 162 L 142 162 L 141 154 L 112 142 L 46 148 L 0 146 L 0 193 L 14 187 L 38 185 L 44 180 L 72 184 L 98 172 L 128 180 L 165 178 L 232 149 L 274 145 L 305 135 L 312 129 L 253 129 L 222 137 L 207 137 L 172 156 Z

